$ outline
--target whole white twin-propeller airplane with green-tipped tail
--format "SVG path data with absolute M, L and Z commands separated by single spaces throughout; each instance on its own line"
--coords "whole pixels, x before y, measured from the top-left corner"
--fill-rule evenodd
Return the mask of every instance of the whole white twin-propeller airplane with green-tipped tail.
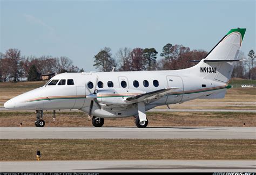
M 136 117 L 148 124 L 145 111 L 194 99 L 224 98 L 246 29 L 232 29 L 197 65 L 176 71 L 62 73 L 43 87 L 4 103 L 17 110 L 36 110 L 36 127 L 44 127 L 43 110 L 79 109 L 95 127 L 104 118 Z

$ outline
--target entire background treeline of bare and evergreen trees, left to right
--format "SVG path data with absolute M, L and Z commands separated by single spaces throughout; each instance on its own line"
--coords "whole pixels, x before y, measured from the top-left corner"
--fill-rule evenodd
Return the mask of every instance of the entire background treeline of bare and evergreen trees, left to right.
M 190 50 L 183 45 L 166 44 L 157 59 L 158 52 L 155 48 L 120 48 L 112 55 L 111 48 L 104 47 L 94 57 L 98 71 L 109 72 L 113 67 L 116 71 L 152 71 L 152 70 L 177 70 L 184 69 L 195 64 L 192 60 L 201 60 L 206 57 L 204 50 Z M 251 50 L 247 56 L 239 53 L 239 59 L 249 61 L 235 62 L 232 78 L 256 79 L 254 60 L 256 56 Z M 51 56 L 26 57 L 21 51 L 10 48 L 4 54 L 0 53 L 0 82 L 18 81 L 28 78 L 29 81 L 37 81 L 42 74 L 83 72 L 73 65 L 68 57 L 53 58 Z

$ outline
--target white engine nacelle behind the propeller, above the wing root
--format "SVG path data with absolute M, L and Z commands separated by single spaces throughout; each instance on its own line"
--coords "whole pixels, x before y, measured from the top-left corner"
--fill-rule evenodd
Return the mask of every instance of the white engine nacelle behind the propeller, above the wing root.
M 106 105 L 110 104 L 129 104 L 125 100 L 127 97 L 144 94 L 142 90 L 133 90 L 125 88 L 107 88 L 98 89 L 97 101 Z

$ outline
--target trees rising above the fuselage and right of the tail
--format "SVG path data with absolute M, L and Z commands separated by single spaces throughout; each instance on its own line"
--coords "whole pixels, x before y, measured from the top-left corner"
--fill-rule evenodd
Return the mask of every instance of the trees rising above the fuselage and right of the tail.
M 120 48 L 112 56 L 111 48 L 104 47 L 94 57 L 95 66 L 99 71 L 152 71 L 152 70 L 177 70 L 192 67 L 192 60 L 201 60 L 206 57 L 204 50 L 190 50 L 183 45 L 166 44 L 157 60 L 155 48 Z M 249 61 L 235 62 L 232 78 L 256 79 L 254 67 L 255 53 L 251 50 L 247 57 L 243 52 L 239 53 L 239 59 Z M 255 72 L 255 73 L 254 73 Z

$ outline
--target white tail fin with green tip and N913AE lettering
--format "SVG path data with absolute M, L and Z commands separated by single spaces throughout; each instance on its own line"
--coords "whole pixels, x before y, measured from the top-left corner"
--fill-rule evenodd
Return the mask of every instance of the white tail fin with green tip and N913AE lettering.
M 204 79 L 228 82 L 233 72 L 246 29 L 231 29 L 190 73 Z

